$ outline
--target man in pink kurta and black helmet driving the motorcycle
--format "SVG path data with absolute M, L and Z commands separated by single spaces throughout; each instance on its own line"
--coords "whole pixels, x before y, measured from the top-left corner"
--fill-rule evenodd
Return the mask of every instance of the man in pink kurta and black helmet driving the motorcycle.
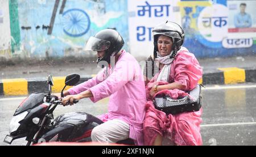
M 137 60 L 122 49 L 123 44 L 122 36 L 112 29 L 90 37 L 86 50 L 97 51 L 97 63 L 108 66 L 93 79 L 65 91 L 62 103 L 73 105 L 74 100 L 82 98 L 97 102 L 110 96 L 108 113 L 99 117 L 105 123 L 94 127 L 92 141 L 116 143 L 131 138 L 135 144 L 143 145 L 144 80 Z

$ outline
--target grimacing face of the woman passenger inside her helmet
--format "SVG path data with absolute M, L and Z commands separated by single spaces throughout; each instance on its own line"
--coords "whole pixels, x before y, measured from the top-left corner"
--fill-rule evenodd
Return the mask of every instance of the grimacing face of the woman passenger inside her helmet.
M 168 56 L 172 52 L 172 38 L 160 35 L 158 38 L 158 52 L 161 56 Z

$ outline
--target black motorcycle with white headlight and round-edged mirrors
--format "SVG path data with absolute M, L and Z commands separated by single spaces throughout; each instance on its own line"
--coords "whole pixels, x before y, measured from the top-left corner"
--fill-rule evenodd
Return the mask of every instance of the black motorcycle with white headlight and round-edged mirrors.
M 65 86 L 76 85 L 80 75 L 74 73 L 65 78 Z M 53 118 L 53 111 L 61 100 L 52 94 L 53 80 L 48 76 L 48 93 L 33 93 L 18 106 L 11 119 L 9 132 L 3 142 L 11 144 L 15 139 L 26 137 L 27 146 L 42 142 L 91 142 L 90 135 L 94 127 L 102 122 L 88 113 L 76 112 L 59 115 Z M 74 100 L 76 104 L 78 101 Z M 133 145 L 133 139 L 117 142 Z

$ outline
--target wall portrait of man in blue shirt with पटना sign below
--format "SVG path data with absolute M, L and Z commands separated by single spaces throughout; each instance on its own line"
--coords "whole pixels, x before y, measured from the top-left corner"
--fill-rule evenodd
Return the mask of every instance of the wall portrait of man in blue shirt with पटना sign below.
M 228 37 L 222 41 L 225 48 L 249 48 L 256 36 L 256 1 L 228 1 Z

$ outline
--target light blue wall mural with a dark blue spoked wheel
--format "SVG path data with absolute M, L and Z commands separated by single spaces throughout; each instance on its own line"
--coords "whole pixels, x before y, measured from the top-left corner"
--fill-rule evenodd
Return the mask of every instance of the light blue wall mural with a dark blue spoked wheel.
M 18 0 L 21 50 L 29 56 L 82 52 L 90 36 L 114 28 L 129 41 L 127 1 Z M 127 48 L 127 44 L 125 45 Z M 129 50 L 129 49 L 128 49 Z M 68 52 L 69 51 L 69 52 Z

